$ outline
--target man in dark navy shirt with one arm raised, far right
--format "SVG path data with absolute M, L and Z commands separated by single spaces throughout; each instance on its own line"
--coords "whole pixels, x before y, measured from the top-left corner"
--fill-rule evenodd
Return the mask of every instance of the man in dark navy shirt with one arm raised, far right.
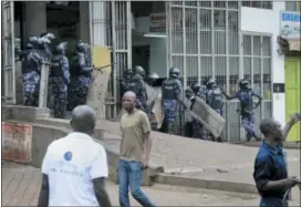
M 282 142 L 292 125 L 300 121 L 293 115 L 282 131 L 281 124 L 273 118 L 264 118 L 260 131 L 264 139 L 255 161 L 253 178 L 261 196 L 260 207 L 287 207 L 288 190 L 300 184 L 295 177 L 288 177 L 287 165 L 282 152 Z

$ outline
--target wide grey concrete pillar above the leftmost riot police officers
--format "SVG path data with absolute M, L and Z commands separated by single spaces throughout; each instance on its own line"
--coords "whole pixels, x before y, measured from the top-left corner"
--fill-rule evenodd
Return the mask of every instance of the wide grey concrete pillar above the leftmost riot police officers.
M 24 8 L 24 35 L 40 35 L 46 31 L 46 2 L 27 1 Z

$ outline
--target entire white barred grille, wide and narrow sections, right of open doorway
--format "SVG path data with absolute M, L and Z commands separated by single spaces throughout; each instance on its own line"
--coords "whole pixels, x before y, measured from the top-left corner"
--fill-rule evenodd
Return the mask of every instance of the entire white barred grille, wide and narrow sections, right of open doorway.
M 253 87 L 259 85 L 258 93 L 263 97 L 261 107 L 256 112 L 259 123 L 262 117 L 271 115 L 271 99 L 264 94 L 264 91 L 271 91 L 271 38 L 251 35 L 255 42 L 246 42 L 246 35 L 239 29 L 240 8 L 241 2 L 238 1 L 167 2 L 167 66 L 181 70 L 184 89 L 196 82 L 205 84 L 214 77 L 228 94 L 233 94 L 239 79 L 248 77 Z M 256 51 L 258 54 L 247 60 L 247 46 L 253 46 L 258 41 L 260 48 L 257 50 L 261 52 Z M 238 106 L 238 101 L 224 104 L 222 115 L 227 121 L 225 137 L 230 142 L 245 136 Z

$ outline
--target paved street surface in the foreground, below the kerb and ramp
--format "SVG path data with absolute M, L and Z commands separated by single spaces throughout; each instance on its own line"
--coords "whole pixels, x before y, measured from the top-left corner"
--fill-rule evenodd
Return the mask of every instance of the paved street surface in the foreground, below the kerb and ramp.
M 37 206 L 40 169 L 11 162 L 2 163 L 2 206 Z M 111 201 L 118 206 L 117 186 L 107 182 Z M 258 206 L 258 196 L 219 190 L 155 185 L 143 188 L 157 206 Z M 293 196 L 299 192 L 294 190 Z M 139 206 L 131 198 L 133 206 Z M 300 206 L 300 197 L 292 205 Z

